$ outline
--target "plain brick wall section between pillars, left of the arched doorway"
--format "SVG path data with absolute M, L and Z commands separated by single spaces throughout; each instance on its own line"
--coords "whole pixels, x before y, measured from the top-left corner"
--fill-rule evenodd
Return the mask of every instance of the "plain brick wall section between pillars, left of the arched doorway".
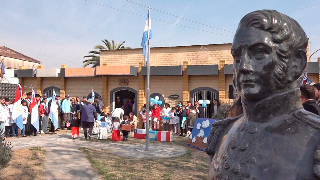
M 82 96 L 92 92 L 92 87 L 94 92 L 102 94 L 101 77 L 68 77 L 66 79 L 66 94 L 70 95 L 70 98 L 78 96 L 82 99 Z

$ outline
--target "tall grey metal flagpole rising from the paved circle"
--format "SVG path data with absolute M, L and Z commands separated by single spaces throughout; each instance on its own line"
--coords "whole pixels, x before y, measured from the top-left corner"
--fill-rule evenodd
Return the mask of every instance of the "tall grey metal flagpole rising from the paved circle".
M 150 44 L 148 41 L 146 151 L 149 151 L 149 125 L 150 125 L 149 104 L 150 104 Z

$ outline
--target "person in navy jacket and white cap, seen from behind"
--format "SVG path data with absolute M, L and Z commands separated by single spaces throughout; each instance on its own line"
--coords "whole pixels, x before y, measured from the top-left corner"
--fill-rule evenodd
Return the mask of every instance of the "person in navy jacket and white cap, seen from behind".
M 88 99 L 81 107 L 80 119 L 83 127 L 84 138 L 91 139 L 92 129 L 94 121 L 97 120 L 97 111 L 96 108 L 92 105 L 93 100 Z M 89 129 L 89 131 L 88 131 Z

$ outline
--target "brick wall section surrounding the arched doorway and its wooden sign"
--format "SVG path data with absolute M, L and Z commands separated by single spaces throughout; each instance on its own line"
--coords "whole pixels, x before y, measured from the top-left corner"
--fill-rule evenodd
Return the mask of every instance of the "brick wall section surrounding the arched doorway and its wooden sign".
M 114 88 L 120 87 L 119 86 L 119 79 L 128 79 L 128 81 L 129 81 L 128 87 L 131 87 L 132 89 L 134 89 L 138 92 L 138 89 L 139 89 L 139 78 L 138 77 L 109 77 L 108 78 L 108 83 L 109 83 L 108 84 L 108 93 L 109 94 Z M 108 104 L 108 107 L 106 107 L 107 112 L 110 111 L 110 98 L 113 98 L 113 96 L 110 97 L 110 95 L 109 95 L 107 103 L 104 102 L 105 106 L 107 106 L 107 104 Z M 138 107 L 138 109 L 140 109 L 140 107 Z

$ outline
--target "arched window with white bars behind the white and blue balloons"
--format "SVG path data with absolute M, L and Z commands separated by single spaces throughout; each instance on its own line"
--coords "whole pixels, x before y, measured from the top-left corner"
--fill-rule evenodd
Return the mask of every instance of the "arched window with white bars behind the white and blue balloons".
M 210 100 L 210 104 L 204 108 L 204 118 L 211 118 L 212 116 L 212 101 L 219 98 L 219 91 L 211 87 L 198 87 L 190 91 L 190 101 L 195 105 L 195 101 Z M 201 104 L 200 104 L 201 105 Z

